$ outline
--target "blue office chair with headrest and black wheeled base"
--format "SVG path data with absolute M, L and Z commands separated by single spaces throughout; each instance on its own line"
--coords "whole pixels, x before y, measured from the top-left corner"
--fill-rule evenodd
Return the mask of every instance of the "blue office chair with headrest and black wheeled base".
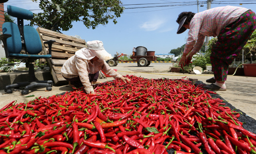
M 33 62 L 41 58 L 52 57 L 52 44 L 55 40 L 44 42 L 49 46 L 49 54 L 38 55 L 42 51 L 42 43 L 39 34 L 35 28 L 29 25 L 23 26 L 23 19 L 33 19 L 33 13 L 30 10 L 22 9 L 16 6 L 7 6 L 7 13 L 17 18 L 17 25 L 13 22 L 3 23 L 3 35 L 0 40 L 3 41 L 6 57 L 9 59 L 20 59 L 26 62 L 26 68 L 29 68 L 29 80 L 27 82 L 7 85 L 5 92 L 12 93 L 12 88 L 24 87 L 21 94 L 28 94 L 29 89 L 33 87 L 46 87 L 46 90 L 52 90 L 53 81 L 36 81 Z M 23 50 L 23 53 L 21 51 Z

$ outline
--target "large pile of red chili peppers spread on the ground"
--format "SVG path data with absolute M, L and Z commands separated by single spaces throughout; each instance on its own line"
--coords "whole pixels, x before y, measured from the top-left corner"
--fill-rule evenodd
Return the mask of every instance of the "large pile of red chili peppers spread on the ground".
M 240 113 L 187 79 L 127 75 L 0 109 L 0 154 L 256 154 Z

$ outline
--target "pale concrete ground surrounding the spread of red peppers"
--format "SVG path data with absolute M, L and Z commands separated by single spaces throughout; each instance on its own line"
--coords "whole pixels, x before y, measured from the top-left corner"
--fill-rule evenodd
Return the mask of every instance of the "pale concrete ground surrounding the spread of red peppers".
M 119 63 L 118 66 L 113 67 L 113 69 L 117 69 L 117 72 L 121 75 L 136 75 L 147 79 L 181 79 L 187 76 L 187 78 L 198 79 L 198 81 L 206 83 L 206 79 L 213 77 L 212 74 L 191 75 L 167 72 L 170 70 L 170 66 L 171 64 L 167 63 L 151 63 L 148 67 L 137 67 L 136 63 Z M 106 82 L 113 79 L 114 78 L 110 77 L 107 79 L 98 79 L 98 81 Z M 228 75 L 226 86 L 226 91 L 217 91 L 217 93 L 234 107 L 242 110 L 253 119 L 256 119 L 256 114 L 254 113 L 256 111 L 256 77 Z M 14 100 L 16 100 L 17 103 L 21 103 L 33 100 L 35 97 L 49 97 L 54 94 L 61 94 L 72 90 L 69 85 L 53 86 L 52 91 L 46 91 L 45 89 L 46 88 L 33 88 L 27 95 L 21 95 L 20 91 L 6 94 L 4 90 L 0 90 L 0 108 Z M 34 95 L 34 97 L 26 97 L 30 95 Z

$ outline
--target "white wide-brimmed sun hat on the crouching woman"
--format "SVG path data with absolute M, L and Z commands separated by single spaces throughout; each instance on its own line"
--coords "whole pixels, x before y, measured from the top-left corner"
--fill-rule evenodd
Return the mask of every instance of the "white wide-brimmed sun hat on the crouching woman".
M 86 60 L 91 60 L 95 56 L 102 60 L 110 60 L 113 57 L 108 53 L 104 47 L 102 41 L 88 41 L 87 48 L 82 48 L 75 52 L 75 55 Z

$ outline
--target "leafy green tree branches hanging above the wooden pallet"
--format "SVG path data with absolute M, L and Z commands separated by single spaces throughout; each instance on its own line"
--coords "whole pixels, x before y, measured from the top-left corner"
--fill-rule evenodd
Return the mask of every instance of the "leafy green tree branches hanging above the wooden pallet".
M 35 0 L 37 2 L 38 0 Z M 72 22 L 82 21 L 87 28 L 106 25 L 123 13 L 121 0 L 40 0 L 42 13 L 34 14 L 30 25 L 53 31 L 68 31 Z

